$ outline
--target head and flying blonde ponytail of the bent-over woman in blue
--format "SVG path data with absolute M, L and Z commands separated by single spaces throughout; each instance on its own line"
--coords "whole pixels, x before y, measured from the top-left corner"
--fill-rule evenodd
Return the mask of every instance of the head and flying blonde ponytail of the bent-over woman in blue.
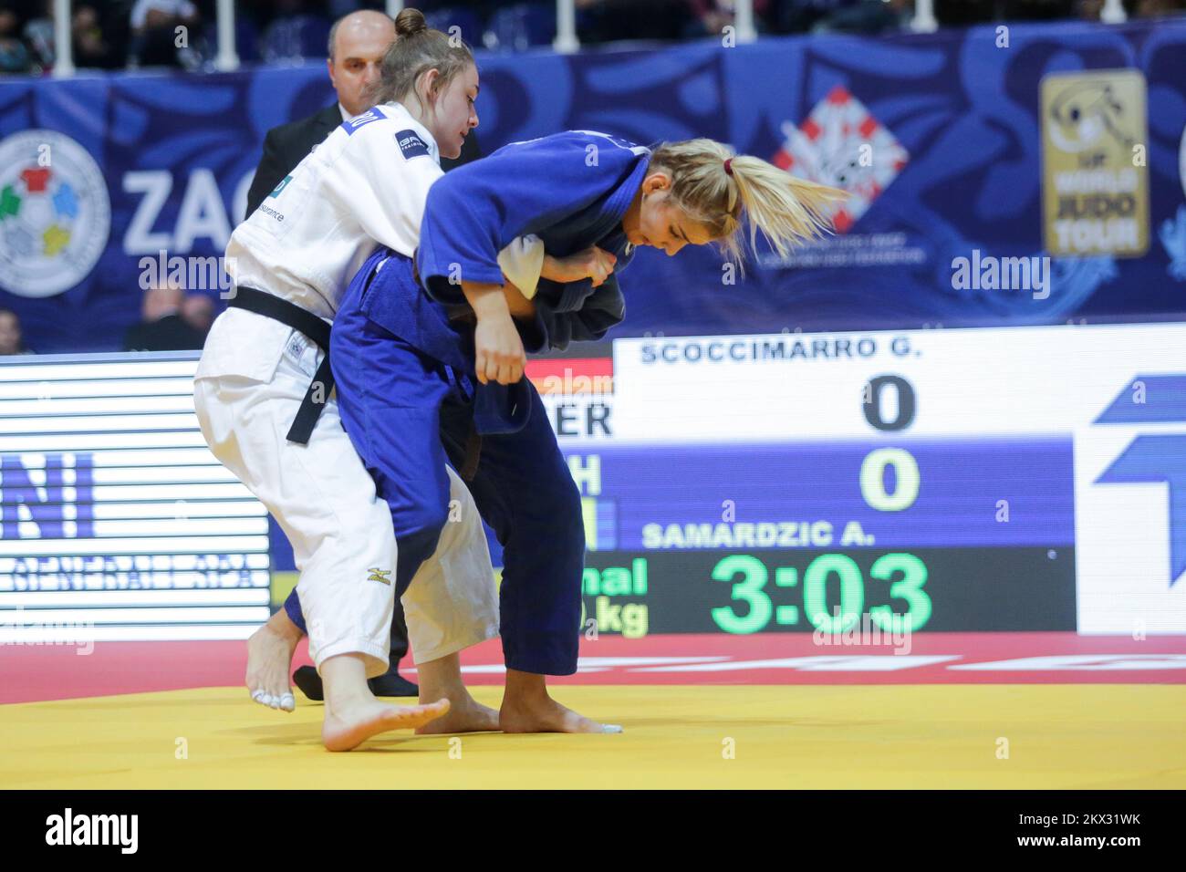
M 829 206 L 848 196 L 796 178 L 761 158 L 739 155 L 712 139 L 659 144 L 651 152 L 648 172 L 656 170 L 671 177 L 676 205 L 702 224 L 739 267 L 744 266 L 742 218 L 750 223 L 751 250 L 761 233 L 778 256 L 786 257 L 793 246 L 829 233 Z

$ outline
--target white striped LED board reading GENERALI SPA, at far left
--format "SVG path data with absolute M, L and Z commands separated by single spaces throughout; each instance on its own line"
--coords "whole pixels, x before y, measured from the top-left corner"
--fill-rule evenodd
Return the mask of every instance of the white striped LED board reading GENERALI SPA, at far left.
M 202 440 L 196 357 L 0 365 L 0 641 L 246 637 L 267 619 L 267 511 Z

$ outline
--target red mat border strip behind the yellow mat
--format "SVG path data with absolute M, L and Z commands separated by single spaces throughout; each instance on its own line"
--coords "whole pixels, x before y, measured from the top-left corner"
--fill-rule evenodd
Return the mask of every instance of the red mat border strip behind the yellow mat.
M 1148 660 L 1179 655 L 1172 668 L 1114 669 L 1116 655 Z M 553 683 L 576 685 L 969 685 L 969 683 L 1186 683 L 1186 636 L 1078 636 L 1071 632 L 920 634 L 911 639 L 910 656 L 946 656 L 954 660 L 874 671 L 849 661 L 844 670 L 812 670 L 824 657 L 890 657 L 888 645 L 817 644 L 808 634 L 754 636 L 671 635 L 627 639 L 601 636 L 581 643 L 582 671 Z M 1099 658 L 1079 668 L 1021 670 L 954 669 L 969 663 L 1078 655 Z M 607 664 L 602 658 L 630 658 Z M 702 662 L 737 663 L 726 671 L 696 668 L 664 671 L 664 663 L 644 658 L 683 657 Z M 814 658 L 791 664 L 755 661 Z M 637 660 L 636 660 L 637 658 Z M 713 661 L 712 658 L 716 658 Z M 307 663 L 302 644 L 298 662 Z M 471 685 L 502 685 L 502 650 L 497 639 L 477 645 L 461 657 Z M 243 642 L 104 642 L 88 656 L 68 645 L 0 647 L 0 702 L 109 696 L 127 693 L 177 690 L 195 687 L 234 687 L 243 682 Z M 656 668 L 659 670 L 656 670 Z M 410 670 L 409 676 L 410 676 Z

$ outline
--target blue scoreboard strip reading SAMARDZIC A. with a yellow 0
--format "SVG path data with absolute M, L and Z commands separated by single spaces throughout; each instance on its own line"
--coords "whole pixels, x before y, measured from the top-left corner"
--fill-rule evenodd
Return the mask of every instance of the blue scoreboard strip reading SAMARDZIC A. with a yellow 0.
M 566 447 L 595 550 L 1064 546 L 1071 439 Z

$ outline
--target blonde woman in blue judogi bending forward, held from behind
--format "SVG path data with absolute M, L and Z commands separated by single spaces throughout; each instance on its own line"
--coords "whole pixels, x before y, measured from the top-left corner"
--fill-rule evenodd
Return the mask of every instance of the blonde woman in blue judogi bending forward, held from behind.
M 735 246 L 751 201 L 733 179 L 733 160 L 712 140 L 652 155 L 584 131 L 509 145 L 438 180 L 415 261 L 377 250 L 338 310 L 331 357 L 339 408 L 391 510 L 397 591 L 449 521 L 446 458 L 503 545 L 504 731 L 607 730 L 553 702 L 544 687 L 544 675 L 576 670 L 585 537 L 576 486 L 538 394 L 522 378 L 523 352 L 600 339 L 619 323 L 617 273 L 636 246 L 668 254 L 722 238 Z M 793 190 L 777 167 L 738 160 L 765 167 L 754 172 L 759 193 L 769 195 L 770 180 L 757 178 L 766 168 Z M 782 225 L 763 230 L 774 241 L 792 236 Z M 600 282 L 565 281 L 540 266 L 516 278 L 499 253 L 517 237 L 542 241 L 540 257 L 595 247 L 613 272 Z M 504 286 L 504 273 L 515 284 Z

